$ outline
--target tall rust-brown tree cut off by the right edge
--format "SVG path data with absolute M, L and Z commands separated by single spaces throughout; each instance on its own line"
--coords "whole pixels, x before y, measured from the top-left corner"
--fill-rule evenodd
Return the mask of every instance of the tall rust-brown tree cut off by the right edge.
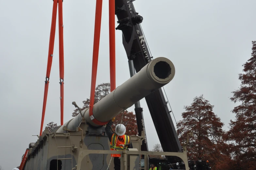
M 256 169 L 256 41 L 252 41 L 251 58 L 243 64 L 239 74 L 241 86 L 233 91 L 234 102 L 240 102 L 232 113 L 227 139 L 230 143 L 233 168 Z

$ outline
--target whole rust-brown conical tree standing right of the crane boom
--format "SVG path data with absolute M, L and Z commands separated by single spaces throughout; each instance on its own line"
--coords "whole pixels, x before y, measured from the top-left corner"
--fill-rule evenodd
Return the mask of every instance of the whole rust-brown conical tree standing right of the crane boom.
M 203 95 L 195 97 L 190 106 L 184 107 L 183 120 L 178 122 L 177 132 L 182 133 L 179 138 L 182 143 L 186 141 L 186 135 L 190 131 L 194 132 L 187 146 L 188 159 L 208 160 L 214 168 L 220 157 L 218 144 L 222 142 L 224 124 L 213 112 L 213 107 Z

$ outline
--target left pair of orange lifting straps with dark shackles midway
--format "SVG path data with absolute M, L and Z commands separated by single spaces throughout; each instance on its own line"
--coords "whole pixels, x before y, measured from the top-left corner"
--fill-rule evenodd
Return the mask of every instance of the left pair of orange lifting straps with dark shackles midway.
M 52 25 L 50 33 L 50 42 L 49 42 L 49 52 L 48 52 L 48 62 L 47 62 L 47 71 L 44 85 L 44 96 L 43 96 L 43 110 L 42 110 L 42 119 L 41 119 L 41 128 L 40 135 L 43 130 L 43 121 L 46 108 L 46 100 L 48 94 L 48 86 L 50 79 L 50 72 L 53 61 L 53 49 L 54 49 L 54 39 L 55 39 L 55 30 L 56 30 L 56 16 L 57 16 L 57 5 L 59 13 L 59 79 L 60 79 L 60 124 L 63 125 L 63 104 L 64 104 L 64 49 L 63 49 L 63 20 L 62 20 L 62 2 L 63 0 L 53 0 L 53 14 L 52 14 Z

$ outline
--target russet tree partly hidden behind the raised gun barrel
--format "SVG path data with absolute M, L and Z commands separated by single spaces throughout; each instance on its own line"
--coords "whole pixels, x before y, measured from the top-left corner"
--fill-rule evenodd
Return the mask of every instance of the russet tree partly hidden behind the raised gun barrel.
M 102 83 L 98 85 L 95 89 L 95 98 L 94 104 L 103 99 L 106 95 L 110 93 L 110 83 Z M 84 105 L 81 110 L 84 110 L 89 107 L 90 99 L 86 99 L 83 101 Z M 78 109 L 75 109 L 72 113 L 72 116 L 80 114 Z M 113 123 L 113 129 L 116 124 L 119 124 L 121 121 L 122 113 L 116 116 L 116 120 Z M 126 135 L 138 135 L 138 128 L 136 122 L 136 116 L 133 112 L 124 112 L 122 124 L 126 127 Z

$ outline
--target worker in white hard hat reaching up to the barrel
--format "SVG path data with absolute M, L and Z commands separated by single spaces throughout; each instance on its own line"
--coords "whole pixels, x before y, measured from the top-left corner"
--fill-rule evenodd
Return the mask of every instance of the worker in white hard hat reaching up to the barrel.
M 130 136 L 125 135 L 126 128 L 123 124 L 118 124 L 116 126 L 116 133 L 113 133 L 111 131 L 111 125 L 113 124 L 113 121 L 115 120 L 115 117 L 108 122 L 106 125 L 105 131 L 108 136 L 108 139 L 110 141 L 110 150 L 124 150 L 124 148 L 120 145 L 125 145 L 130 143 Z M 132 143 L 128 145 L 128 148 L 133 148 Z M 120 170 L 121 162 L 120 162 L 120 154 L 111 154 L 112 157 L 114 157 L 114 165 L 115 170 Z

